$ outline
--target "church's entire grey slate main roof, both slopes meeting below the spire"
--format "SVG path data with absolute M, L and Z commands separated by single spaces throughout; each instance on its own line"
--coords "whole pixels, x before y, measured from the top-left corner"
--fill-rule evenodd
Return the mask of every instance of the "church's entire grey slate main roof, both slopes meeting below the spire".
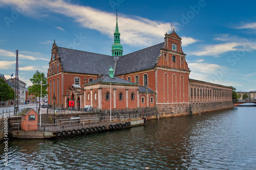
M 154 68 L 163 45 L 164 42 L 120 57 L 117 60 L 115 75 Z M 109 75 L 110 67 L 114 68 L 115 65 L 113 56 L 69 48 L 58 47 L 58 55 L 63 70 L 67 72 Z

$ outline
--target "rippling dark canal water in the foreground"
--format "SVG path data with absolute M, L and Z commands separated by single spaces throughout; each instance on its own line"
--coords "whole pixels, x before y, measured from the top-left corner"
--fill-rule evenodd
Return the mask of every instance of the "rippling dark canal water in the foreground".
M 1 141 L 0 169 L 256 169 L 256 107 L 53 140 Z

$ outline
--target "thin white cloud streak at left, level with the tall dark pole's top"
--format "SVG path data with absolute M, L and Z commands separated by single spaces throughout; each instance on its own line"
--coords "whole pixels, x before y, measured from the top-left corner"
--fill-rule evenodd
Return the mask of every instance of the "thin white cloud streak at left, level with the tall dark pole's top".
M 49 61 L 49 59 L 46 59 L 46 58 L 39 58 L 39 57 L 34 57 L 34 56 L 30 56 L 30 55 L 26 55 L 26 54 L 20 54 L 20 53 L 22 53 L 22 52 L 18 53 L 19 59 L 28 59 L 28 60 L 34 60 L 34 61 L 35 60 L 46 60 L 46 61 Z M 30 53 L 32 53 L 32 52 L 30 52 Z M 37 54 L 38 55 L 38 53 L 32 53 L 32 54 Z M 16 52 L 9 52 L 9 51 L 1 50 L 0 49 L 0 56 L 3 56 L 3 57 L 16 57 Z

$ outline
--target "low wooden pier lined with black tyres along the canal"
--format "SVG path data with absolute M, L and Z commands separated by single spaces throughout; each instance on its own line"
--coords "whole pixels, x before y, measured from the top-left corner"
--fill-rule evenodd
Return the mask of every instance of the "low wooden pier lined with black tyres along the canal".
M 123 128 L 131 128 L 134 126 L 141 126 L 145 124 L 145 119 L 131 119 L 126 121 L 118 122 L 93 122 L 93 121 L 83 121 L 83 120 L 72 120 L 72 122 L 77 121 L 76 124 L 65 125 L 62 123 L 53 125 L 41 125 L 38 130 L 32 131 L 23 131 L 15 130 L 12 131 L 13 138 L 30 138 L 30 139 L 45 139 L 45 138 L 54 138 L 54 137 L 65 137 L 71 135 L 79 134 L 89 134 L 99 131 L 106 130 L 118 130 Z

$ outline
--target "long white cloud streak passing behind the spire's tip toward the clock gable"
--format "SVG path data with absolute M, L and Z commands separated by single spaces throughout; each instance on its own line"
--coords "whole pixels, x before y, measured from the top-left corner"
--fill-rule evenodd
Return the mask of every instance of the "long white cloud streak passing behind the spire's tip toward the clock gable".
M 22 1 L 18 0 L 2 0 L 1 3 L 10 5 L 14 9 L 22 5 Z M 116 25 L 115 13 L 74 5 L 70 1 L 30 1 L 29 7 L 23 14 L 30 17 L 40 17 L 40 14 L 45 13 L 46 10 L 71 17 L 84 28 L 97 30 L 104 35 L 113 37 Z M 173 22 L 173 25 L 177 24 Z M 171 23 L 169 22 L 153 21 L 138 16 L 133 18 L 122 14 L 118 16 L 118 27 L 123 44 L 150 46 L 156 42 L 163 42 L 164 34 L 171 31 L 170 26 Z M 184 44 L 187 45 L 195 40 L 190 38 L 187 42 L 184 41 Z

